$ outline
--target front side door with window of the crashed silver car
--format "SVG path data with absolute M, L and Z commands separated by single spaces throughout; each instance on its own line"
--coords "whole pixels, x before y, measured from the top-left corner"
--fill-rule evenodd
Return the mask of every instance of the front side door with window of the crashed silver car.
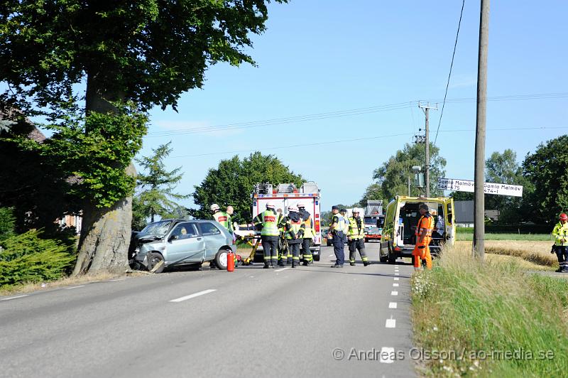
M 205 241 L 195 224 L 182 222 L 175 225 L 167 240 L 164 258 L 168 265 L 203 261 Z

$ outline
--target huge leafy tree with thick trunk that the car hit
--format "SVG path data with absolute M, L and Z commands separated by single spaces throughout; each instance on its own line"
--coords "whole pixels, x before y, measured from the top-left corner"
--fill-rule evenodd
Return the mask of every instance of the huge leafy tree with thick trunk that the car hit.
M 267 2 L 4 2 L 0 102 L 43 115 L 53 142 L 23 146 L 77 177 L 84 219 L 75 274 L 128 268 L 131 159 L 146 112 L 175 109 L 210 65 L 254 64 L 244 49 L 249 33 L 265 29 Z

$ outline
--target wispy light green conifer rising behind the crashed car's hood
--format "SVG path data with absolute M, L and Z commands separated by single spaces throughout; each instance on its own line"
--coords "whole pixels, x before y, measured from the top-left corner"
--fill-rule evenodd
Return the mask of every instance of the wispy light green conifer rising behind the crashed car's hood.
M 153 156 L 144 156 L 136 159 L 144 172 L 138 173 L 137 185 L 140 190 L 133 198 L 132 220 L 146 220 L 148 217 L 154 222 L 155 215 L 161 218 L 169 217 L 180 207 L 175 200 L 185 200 L 190 195 L 175 193 L 175 187 L 180 183 L 182 167 L 173 171 L 165 169 L 164 159 L 170 155 L 171 142 L 153 148 Z

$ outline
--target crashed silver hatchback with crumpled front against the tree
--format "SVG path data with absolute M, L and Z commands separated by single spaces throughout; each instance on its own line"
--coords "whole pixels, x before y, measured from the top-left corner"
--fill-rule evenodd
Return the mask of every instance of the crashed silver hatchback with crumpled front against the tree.
M 214 220 L 160 220 L 133 235 L 129 260 L 155 273 L 169 266 L 201 266 L 205 261 L 226 269 L 226 255 L 236 252 L 233 237 Z

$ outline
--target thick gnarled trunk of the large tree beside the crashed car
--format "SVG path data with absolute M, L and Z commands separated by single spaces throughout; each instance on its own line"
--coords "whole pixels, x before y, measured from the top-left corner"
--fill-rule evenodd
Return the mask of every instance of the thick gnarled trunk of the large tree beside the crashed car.
M 86 111 L 116 112 L 109 103 L 121 99 L 116 92 L 109 94 L 98 85 L 97 75 L 87 75 Z M 89 132 L 87 130 L 87 132 Z M 136 175 L 133 164 L 126 173 Z M 107 208 L 96 207 L 87 201 L 83 209 L 79 255 L 73 275 L 108 272 L 122 274 L 129 270 L 128 249 L 131 237 L 132 197 Z

